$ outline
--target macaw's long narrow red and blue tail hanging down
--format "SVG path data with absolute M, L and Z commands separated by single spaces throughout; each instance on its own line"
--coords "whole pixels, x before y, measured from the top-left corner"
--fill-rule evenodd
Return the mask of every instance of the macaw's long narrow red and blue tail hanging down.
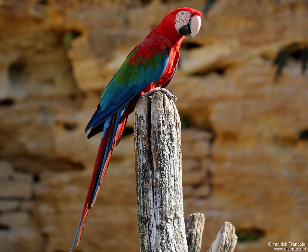
M 73 250 L 76 240 L 77 240 L 77 246 L 80 242 L 82 231 L 89 210 L 95 203 L 95 199 L 96 196 L 98 195 L 100 185 L 106 174 L 113 147 L 118 145 L 122 133 L 124 131 L 127 122 L 127 117 L 129 114 L 128 109 L 129 109 L 128 107 L 120 109 L 117 113 L 112 115 L 104 122 L 102 140 L 100 142 L 99 150 L 96 156 L 90 187 L 88 190 L 86 202 L 83 207 L 81 218 L 78 224 L 77 232 L 75 234 L 74 242 L 71 247 L 71 251 Z

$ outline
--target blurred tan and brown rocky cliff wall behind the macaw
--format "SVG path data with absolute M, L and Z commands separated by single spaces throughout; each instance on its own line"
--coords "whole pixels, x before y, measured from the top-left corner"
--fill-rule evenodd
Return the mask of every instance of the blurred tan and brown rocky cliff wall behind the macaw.
M 308 243 L 308 2 L 209 2 L 0 1 L 1 251 L 69 250 L 100 141 L 84 128 L 132 48 L 183 6 L 202 26 L 169 88 L 202 251 L 224 221 L 236 251 Z M 135 193 L 131 115 L 75 251 L 138 251 Z

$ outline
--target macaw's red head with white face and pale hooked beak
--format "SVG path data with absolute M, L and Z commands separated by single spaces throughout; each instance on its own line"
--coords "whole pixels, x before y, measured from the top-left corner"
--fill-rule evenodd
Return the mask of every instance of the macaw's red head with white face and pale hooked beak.
M 201 16 L 199 10 L 188 7 L 179 8 L 165 16 L 157 29 L 169 38 L 190 36 L 192 39 L 200 30 Z

